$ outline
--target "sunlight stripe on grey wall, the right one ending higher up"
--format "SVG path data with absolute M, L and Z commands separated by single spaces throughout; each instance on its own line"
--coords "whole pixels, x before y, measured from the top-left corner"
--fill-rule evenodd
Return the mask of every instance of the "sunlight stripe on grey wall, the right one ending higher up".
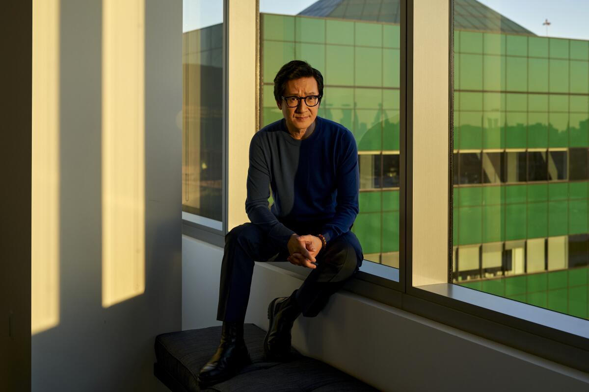
M 102 306 L 145 290 L 144 0 L 102 2 Z

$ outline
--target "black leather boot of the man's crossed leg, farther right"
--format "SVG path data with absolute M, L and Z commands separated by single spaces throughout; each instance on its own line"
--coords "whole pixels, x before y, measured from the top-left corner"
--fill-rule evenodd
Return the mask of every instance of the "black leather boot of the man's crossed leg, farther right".
M 268 306 L 270 323 L 264 339 L 264 353 L 269 361 L 290 359 L 290 330 L 301 311 L 294 297 L 296 292 L 294 290 L 290 297 L 275 298 Z

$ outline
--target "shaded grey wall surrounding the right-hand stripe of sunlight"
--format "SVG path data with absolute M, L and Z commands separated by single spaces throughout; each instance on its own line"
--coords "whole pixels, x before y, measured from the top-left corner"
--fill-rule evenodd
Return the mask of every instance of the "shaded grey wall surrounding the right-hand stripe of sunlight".
M 182 2 L 145 0 L 145 290 L 102 307 L 102 1 L 61 0 L 59 323 L 34 391 L 165 391 L 154 338 L 181 328 Z

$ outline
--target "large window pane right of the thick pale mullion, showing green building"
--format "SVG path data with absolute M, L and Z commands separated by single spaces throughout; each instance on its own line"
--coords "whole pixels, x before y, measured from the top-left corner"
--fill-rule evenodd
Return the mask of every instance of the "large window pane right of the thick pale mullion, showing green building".
M 478 1 L 454 1 L 454 282 L 589 319 L 587 9 Z

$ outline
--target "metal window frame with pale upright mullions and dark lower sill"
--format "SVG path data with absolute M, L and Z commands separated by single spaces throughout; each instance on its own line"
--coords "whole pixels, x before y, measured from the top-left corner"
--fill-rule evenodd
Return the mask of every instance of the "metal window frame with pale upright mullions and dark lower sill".
M 224 0 L 224 15 L 227 16 L 227 4 L 234 0 Z M 243 0 L 242 0 L 243 1 Z M 260 39 L 259 25 L 259 1 L 249 0 L 256 6 L 256 31 L 257 43 Z M 493 294 L 477 292 L 452 283 L 453 269 L 453 240 L 452 229 L 452 200 L 454 197 L 454 0 L 448 0 L 448 214 L 447 220 L 442 222 L 448 230 L 447 248 L 447 280 L 446 282 L 413 286 L 413 219 L 408 211 L 413 209 L 413 98 L 414 91 L 408 86 L 413 86 L 413 46 L 414 42 L 414 8 L 416 2 L 429 0 L 402 0 L 401 1 L 401 108 L 400 108 L 400 187 L 399 192 L 399 282 L 385 279 L 373 274 L 358 272 L 353 279 L 346 283 L 344 289 L 379 301 L 380 303 L 409 311 L 419 316 L 438 321 L 448 326 L 467 331 L 477 336 L 484 337 L 505 344 L 515 349 L 525 351 L 548 360 L 555 361 L 565 366 L 581 371 L 589 372 L 589 320 L 578 319 L 574 316 L 552 312 L 547 309 L 519 303 L 517 301 L 494 296 Z M 226 36 L 230 26 L 229 19 L 224 19 L 224 75 L 227 75 L 226 59 L 231 55 L 231 48 L 227 48 Z M 435 31 L 434 31 L 435 33 Z M 445 50 L 445 49 L 442 49 Z M 257 83 L 260 83 L 260 56 L 256 53 Z M 227 98 L 227 79 L 224 76 L 223 91 Z M 256 92 L 256 127 L 259 128 L 260 108 L 257 104 L 259 91 Z M 225 105 L 226 99 L 224 99 Z M 227 108 L 227 106 L 225 107 Z M 224 153 L 227 149 L 227 111 L 224 112 Z M 214 233 L 206 227 L 197 227 L 196 224 L 183 222 L 183 234 L 195 237 L 217 246 L 224 246 L 224 233 L 227 233 L 227 159 L 223 160 L 223 186 L 224 210 L 223 232 Z M 567 167 L 568 169 L 568 167 Z M 230 207 L 230 206 L 229 206 Z M 243 205 L 241 206 L 243 208 Z M 288 263 L 274 263 L 274 265 L 298 273 L 302 279 L 308 271 L 302 271 Z M 509 301 L 507 303 L 506 301 Z M 507 311 L 498 311 L 501 306 L 508 304 Z M 548 312 L 548 313 L 547 313 Z M 550 314 L 550 317 L 546 315 Z M 568 330 L 555 328 L 554 318 L 563 321 L 578 321 L 571 324 Z M 570 319 L 569 319 L 570 318 Z M 532 321 L 533 320 L 533 321 Z M 585 323 L 586 321 L 586 323 Z M 578 326 L 581 326 L 579 328 Z

